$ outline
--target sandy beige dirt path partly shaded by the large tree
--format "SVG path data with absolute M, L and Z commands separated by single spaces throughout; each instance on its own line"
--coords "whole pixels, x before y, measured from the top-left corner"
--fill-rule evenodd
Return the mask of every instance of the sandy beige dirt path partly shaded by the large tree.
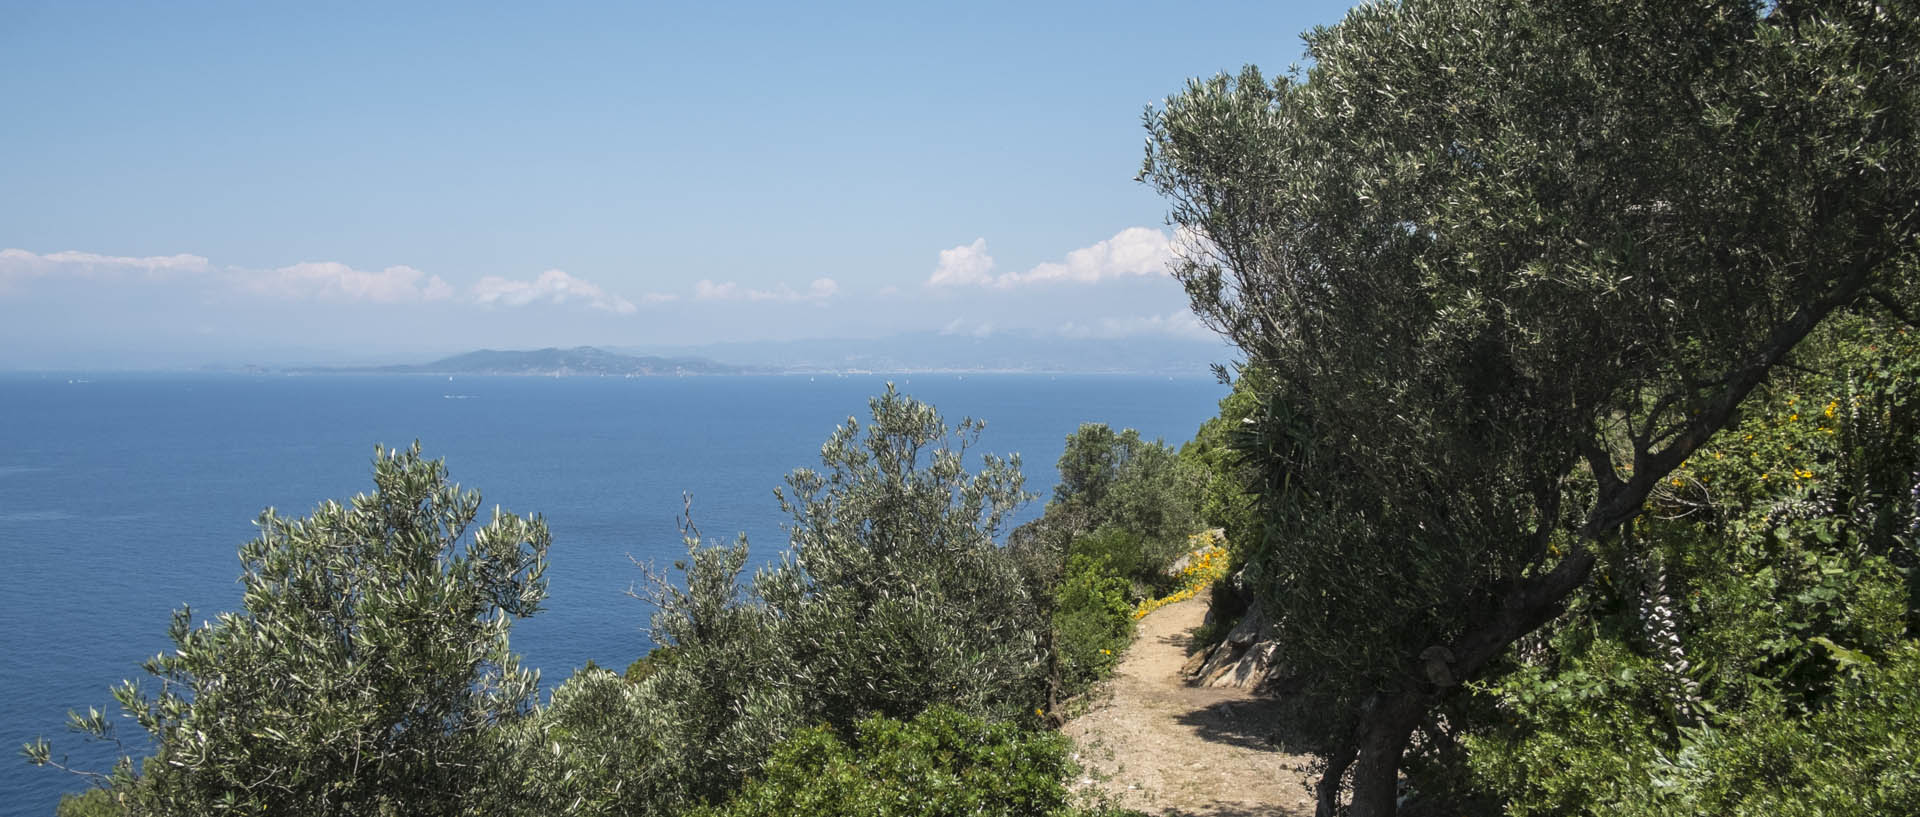
M 1311 815 L 1302 784 L 1309 758 L 1267 742 L 1269 708 L 1246 690 L 1181 677 L 1188 633 L 1204 618 L 1206 598 L 1190 598 L 1140 619 L 1092 710 L 1064 729 L 1092 773 L 1083 784 L 1150 815 Z

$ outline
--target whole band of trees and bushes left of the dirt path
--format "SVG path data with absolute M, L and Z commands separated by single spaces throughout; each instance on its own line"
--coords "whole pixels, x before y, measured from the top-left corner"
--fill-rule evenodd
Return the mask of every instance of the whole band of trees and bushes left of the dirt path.
M 1062 671 L 1087 685 L 1117 660 L 1131 585 L 1064 547 L 1000 547 L 1031 497 L 1018 456 L 972 451 L 983 424 L 950 430 L 891 387 L 870 408 L 778 491 L 780 560 L 747 577 L 745 539 L 708 545 L 689 518 L 687 556 L 649 572 L 659 646 L 624 675 L 589 664 L 545 708 L 507 650 L 545 593 L 545 525 L 495 512 L 467 535 L 478 495 L 419 447 L 382 453 L 351 506 L 261 518 L 246 612 L 180 612 L 179 650 L 148 664 L 157 698 L 117 692 L 156 756 L 61 809 L 1069 813 L 1066 744 L 1023 729 Z M 1112 437 L 1108 474 L 1087 472 L 1104 499 L 1069 501 L 1139 562 L 1146 535 L 1119 525 L 1190 508 L 1146 504 L 1177 485 L 1171 449 Z M 75 723 L 111 738 L 104 713 Z M 27 754 L 58 765 L 46 742 Z

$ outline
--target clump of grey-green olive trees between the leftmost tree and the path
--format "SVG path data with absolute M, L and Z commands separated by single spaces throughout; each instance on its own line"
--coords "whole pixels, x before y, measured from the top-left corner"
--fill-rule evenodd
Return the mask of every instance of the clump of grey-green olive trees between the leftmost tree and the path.
M 931 706 L 1031 721 L 1046 690 L 1043 587 L 996 543 L 1031 497 L 1018 456 L 977 456 L 891 385 L 776 491 L 793 522 L 778 562 L 741 581 L 747 543 L 687 527 L 655 575 L 645 677 L 584 671 L 520 740 L 551 813 L 680 813 L 718 804 L 799 729 L 851 736 Z

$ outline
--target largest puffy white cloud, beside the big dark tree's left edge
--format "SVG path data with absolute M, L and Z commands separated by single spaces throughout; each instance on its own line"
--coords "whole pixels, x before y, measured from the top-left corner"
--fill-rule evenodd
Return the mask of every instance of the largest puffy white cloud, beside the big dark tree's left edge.
M 1173 261 L 1173 240 L 1165 232 L 1150 226 L 1129 226 L 1104 242 L 1081 247 L 1062 261 L 1048 261 L 1025 272 L 993 274 L 993 257 L 987 255 L 987 240 L 941 249 L 941 263 L 927 278 L 929 288 L 943 286 L 991 286 L 1012 290 L 1029 284 L 1094 284 L 1110 278 L 1139 278 L 1167 272 Z

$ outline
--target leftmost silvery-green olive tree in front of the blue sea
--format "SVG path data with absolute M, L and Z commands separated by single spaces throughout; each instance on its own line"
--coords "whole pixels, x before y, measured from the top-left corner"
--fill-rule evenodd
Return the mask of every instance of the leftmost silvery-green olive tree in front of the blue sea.
M 499 727 L 534 706 L 538 673 L 507 635 L 545 598 L 551 535 L 493 510 L 445 464 L 376 451 L 374 491 L 307 518 L 261 514 L 240 547 L 242 610 L 192 625 L 146 662 L 157 687 L 113 692 L 152 738 L 106 781 L 136 815 L 459 815 L 497 809 Z M 100 712 L 75 727 L 113 738 Z M 29 759 L 54 763 L 44 740 Z

